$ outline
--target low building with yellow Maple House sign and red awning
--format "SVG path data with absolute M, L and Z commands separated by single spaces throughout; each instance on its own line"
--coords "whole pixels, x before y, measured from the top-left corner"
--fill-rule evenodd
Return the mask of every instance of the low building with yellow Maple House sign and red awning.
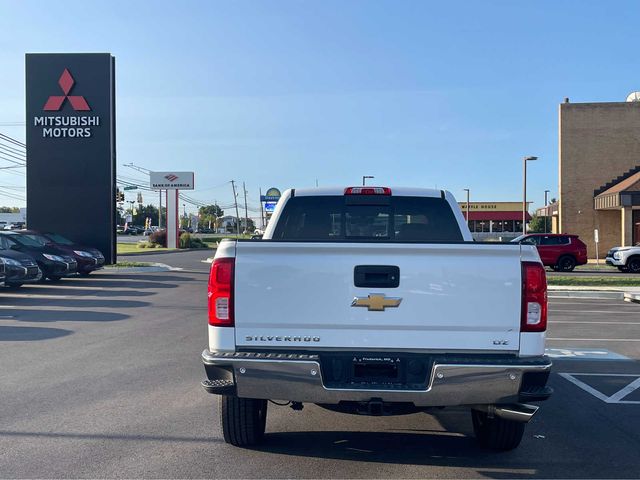
M 467 218 L 467 203 L 458 202 Z M 529 202 L 526 222 L 531 220 Z M 469 202 L 467 218 L 469 230 L 476 240 L 514 238 L 522 233 L 522 202 Z

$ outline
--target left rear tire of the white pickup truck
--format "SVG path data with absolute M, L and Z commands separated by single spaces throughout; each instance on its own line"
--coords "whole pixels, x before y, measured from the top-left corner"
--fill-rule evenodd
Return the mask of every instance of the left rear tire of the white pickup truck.
M 220 395 L 220 425 L 225 442 L 236 447 L 260 443 L 266 421 L 266 400 Z

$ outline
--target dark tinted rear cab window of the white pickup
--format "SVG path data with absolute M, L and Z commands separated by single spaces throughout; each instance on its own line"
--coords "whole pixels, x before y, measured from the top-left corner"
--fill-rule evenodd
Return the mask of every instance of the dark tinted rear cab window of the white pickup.
M 345 242 L 461 242 L 443 198 L 381 195 L 290 198 L 274 240 Z

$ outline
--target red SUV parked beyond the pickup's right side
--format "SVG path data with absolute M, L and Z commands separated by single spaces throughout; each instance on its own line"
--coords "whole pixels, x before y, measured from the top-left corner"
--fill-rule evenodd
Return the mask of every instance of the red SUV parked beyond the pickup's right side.
M 556 272 L 570 272 L 576 265 L 587 263 L 587 246 L 577 235 L 530 233 L 511 240 L 524 245 L 535 245 L 542 263 Z

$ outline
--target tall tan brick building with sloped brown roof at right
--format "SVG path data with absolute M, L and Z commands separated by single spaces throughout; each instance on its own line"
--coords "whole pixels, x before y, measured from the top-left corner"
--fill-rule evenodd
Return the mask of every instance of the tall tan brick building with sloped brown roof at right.
M 557 230 L 595 257 L 640 242 L 640 102 L 565 103 L 559 121 Z

